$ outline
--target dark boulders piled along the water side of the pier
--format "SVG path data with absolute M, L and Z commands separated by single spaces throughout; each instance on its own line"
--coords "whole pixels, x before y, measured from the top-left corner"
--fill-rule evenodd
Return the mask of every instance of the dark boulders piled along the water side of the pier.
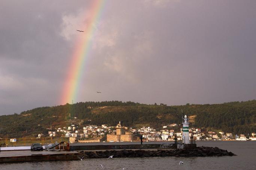
M 132 157 L 221 157 L 235 156 L 232 152 L 219 149 L 218 147 L 196 147 L 194 149 L 157 149 L 149 150 L 107 150 L 107 151 L 80 151 L 85 158 L 108 158 L 114 155 L 113 158 L 132 158 Z

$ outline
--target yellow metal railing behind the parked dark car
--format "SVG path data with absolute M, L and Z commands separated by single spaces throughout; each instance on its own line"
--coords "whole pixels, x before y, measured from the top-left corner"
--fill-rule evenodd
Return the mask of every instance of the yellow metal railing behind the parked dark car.
M 33 143 L 40 143 L 42 145 L 54 143 L 55 141 L 68 141 L 68 138 L 54 138 L 54 137 L 24 137 L 24 138 L 0 138 L 1 147 L 12 147 L 12 146 L 29 146 Z

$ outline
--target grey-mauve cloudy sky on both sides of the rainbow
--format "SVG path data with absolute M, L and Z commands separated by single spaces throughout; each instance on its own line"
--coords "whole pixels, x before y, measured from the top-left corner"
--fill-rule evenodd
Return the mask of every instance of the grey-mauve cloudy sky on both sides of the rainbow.
M 256 99 L 255 0 L 108 0 L 62 102 L 90 0 L 0 0 L 0 115 L 85 101 Z M 100 91 L 101 93 L 96 93 Z

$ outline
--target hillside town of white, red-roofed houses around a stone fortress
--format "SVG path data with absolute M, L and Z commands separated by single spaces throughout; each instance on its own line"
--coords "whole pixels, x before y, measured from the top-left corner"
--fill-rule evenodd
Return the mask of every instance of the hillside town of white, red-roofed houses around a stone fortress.
M 84 126 L 82 129 L 78 129 L 79 126 L 70 125 L 67 127 L 58 127 L 57 129 L 48 128 L 49 136 L 58 136 L 61 137 L 73 137 L 77 141 L 83 142 L 123 142 L 123 141 L 137 141 L 138 138 L 129 137 L 129 138 L 116 138 L 113 135 L 130 135 L 134 134 L 135 136 L 143 136 L 144 141 L 174 141 L 182 140 L 183 132 L 181 125 L 172 123 L 166 126 L 162 126 L 160 130 L 156 130 L 152 127 L 141 127 L 135 129 L 132 127 L 121 126 L 121 123 L 117 126 L 109 125 L 90 125 Z M 120 130 L 121 129 L 121 130 Z M 179 129 L 179 130 L 173 130 Z M 112 135 L 112 136 L 111 136 Z M 256 140 L 256 133 L 252 132 L 251 134 L 232 134 L 229 132 L 213 132 L 213 131 L 202 131 L 200 128 L 191 127 L 189 128 L 190 139 L 196 141 L 206 141 L 206 140 L 238 140 L 238 141 L 247 141 L 247 140 Z M 42 137 L 43 134 L 38 134 L 38 138 Z M 130 135 L 131 136 L 131 135 Z M 46 137 L 46 136 L 45 136 Z M 107 138 L 106 138 L 107 137 Z

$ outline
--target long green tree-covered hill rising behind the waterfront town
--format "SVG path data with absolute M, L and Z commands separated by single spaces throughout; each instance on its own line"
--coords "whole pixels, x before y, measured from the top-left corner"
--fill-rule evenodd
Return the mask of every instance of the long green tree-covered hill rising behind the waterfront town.
M 55 107 L 40 107 L 21 114 L 0 116 L 0 137 L 36 136 L 46 128 L 64 127 L 80 120 L 80 126 L 110 124 L 119 120 L 129 127 L 159 128 L 170 123 L 182 123 L 182 113 L 191 117 L 191 125 L 201 129 L 216 129 L 234 134 L 256 131 L 256 100 L 223 104 L 186 104 L 166 106 L 134 102 L 81 102 Z M 75 119 L 75 117 L 77 117 Z

